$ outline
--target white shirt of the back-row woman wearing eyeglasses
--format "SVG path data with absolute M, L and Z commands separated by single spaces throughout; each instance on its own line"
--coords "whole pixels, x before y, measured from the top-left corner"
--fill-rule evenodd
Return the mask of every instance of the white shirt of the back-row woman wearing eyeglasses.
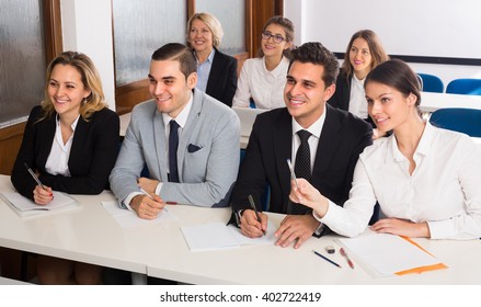
M 268 71 L 265 59 L 251 58 L 244 61 L 238 80 L 232 106 L 248 107 L 251 98 L 257 109 L 277 109 L 286 106 L 284 87 L 286 86 L 289 60 L 283 57 L 274 70 Z

